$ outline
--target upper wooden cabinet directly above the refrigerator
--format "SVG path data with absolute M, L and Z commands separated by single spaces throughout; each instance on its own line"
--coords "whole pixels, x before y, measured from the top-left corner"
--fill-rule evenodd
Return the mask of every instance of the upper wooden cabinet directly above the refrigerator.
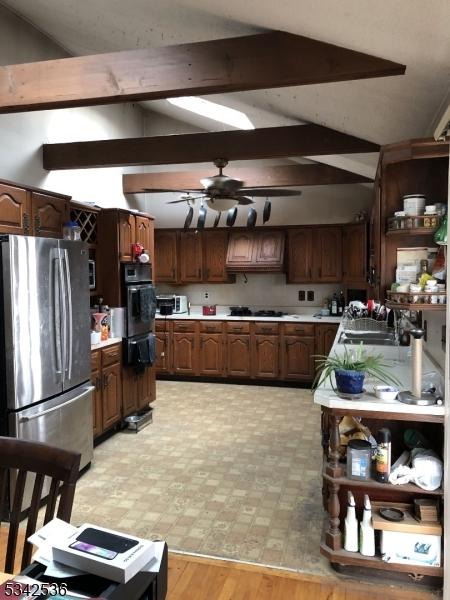
M 61 238 L 69 203 L 68 196 L 0 182 L 0 232 Z

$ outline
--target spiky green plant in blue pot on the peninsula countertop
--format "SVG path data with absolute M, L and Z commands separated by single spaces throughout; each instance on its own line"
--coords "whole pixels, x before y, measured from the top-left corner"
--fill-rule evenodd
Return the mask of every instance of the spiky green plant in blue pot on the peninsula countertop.
M 344 346 L 342 354 L 316 356 L 317 373 L 312 389 L 319 387 L 330 377 L 333 390 L 341 394 L 362 394 L 366 375 L 376 377 L 382 382 L 401 385 L 400 381 L 390 373 L 389 365 L 384 362 L 382 354 L 367 354 L 362 344 L 352 346 L 351 350 Z M 336 387 L 331 375 L 334 373 Z

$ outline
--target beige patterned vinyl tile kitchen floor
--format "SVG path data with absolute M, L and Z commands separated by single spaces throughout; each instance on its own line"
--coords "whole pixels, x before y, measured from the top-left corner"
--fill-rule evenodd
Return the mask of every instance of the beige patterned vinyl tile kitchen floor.
M 309 390 L 158 381 L 153 423 L 95 448 L 72 523 L 329 575 L 321 455 Z

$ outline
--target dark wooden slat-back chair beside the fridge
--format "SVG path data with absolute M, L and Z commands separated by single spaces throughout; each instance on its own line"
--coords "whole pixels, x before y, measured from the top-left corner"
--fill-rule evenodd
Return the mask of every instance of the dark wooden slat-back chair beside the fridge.
M 9 472 L 16 470 L 14 498 L 10 508 L 10 525 L 6 549 L 5 571 L 14 572 L 17 550 L 19 523 L 23 516 L 22 502 L 27 475 L 36 474 L 31 504 L 28 510 L 28 522 L 23 545 L 21 570 L 31 562 L 33 546 L 26 539 L 36 531 L 39 508 L 45 476 L 50 477 L 50 492 L 47 498 L 44 524 L 55 516 L 58 494 L 61 497 L 56 516 L 70 521 L 75 485 L 78 479 L 81 455 L 48 444 L 29 442 L 10 437 L 0 437 L 0 509 L 4 511 L 7 493 L 9 493 Z M 62 484 L 62 485 L 61 485 Z M 0 514 L 0 517 L 2 515 Z

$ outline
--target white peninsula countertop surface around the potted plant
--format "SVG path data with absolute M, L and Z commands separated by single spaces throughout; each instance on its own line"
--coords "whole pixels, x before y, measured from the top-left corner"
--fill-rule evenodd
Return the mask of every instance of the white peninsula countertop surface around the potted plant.
M 339 327 L 334 340 L 331 353 L 343 354 L 347 347 L 351 350 L 352 346 L 346 346 L 338 342 L 339 337 L 344 328 L 342 325 Z M 367 353 L 372 354 L 383 354 L 385 362 L 392 365 L 392 372 L 397 379 L 400 380 L 400 390 L 411 389 L 411 357 L 408 356 L 410 347 L 403 346 L 364 346 L 364 350 Z M 427 357 L 426 353 L 423 353 L 423 372 L 437 371 L 436 366 Z M 442 374 L 442 373 L 441 373 Z M 366 392 L 359 400 L 343 400 L 336 395 L 331 386 L 330 379 L 324 381 L 321 386 L 314 393 L 314 404 L 319 404 L 327 408 L 344 409 L 351 411 L 358 411 L 364 413 L 364 411 L 371 412 L 390 412 L 397 414 L 417 414 L 417 415 L 433 415 L 433 416 L 444 416 L 444 406 L 415 406 L 414 404 L 404 404 L 399 400 L 380 400 L 377 398 L 372 390 L 374 385 L 380 385 L 380 382 L 366 377 L 365 378 L 365 389 Z M 390 385 L 390 384 L 389 384 Z

